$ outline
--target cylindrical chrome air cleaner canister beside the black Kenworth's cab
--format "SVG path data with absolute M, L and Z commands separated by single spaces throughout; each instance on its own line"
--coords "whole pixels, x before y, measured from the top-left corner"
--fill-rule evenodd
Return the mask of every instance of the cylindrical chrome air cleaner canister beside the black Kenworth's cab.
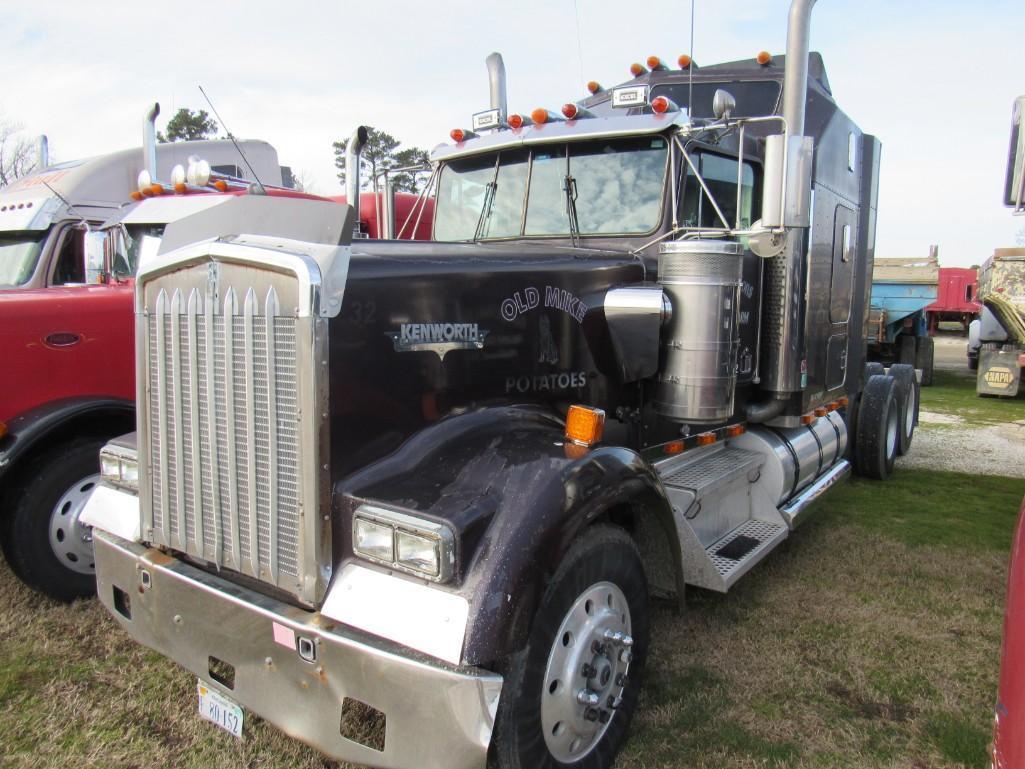
M 680 240 L 659 248 L 658 282 L 672 305 L 655 388 L 660 414 L 686 422 L 733 414 L 742 270 L 739 243 Z

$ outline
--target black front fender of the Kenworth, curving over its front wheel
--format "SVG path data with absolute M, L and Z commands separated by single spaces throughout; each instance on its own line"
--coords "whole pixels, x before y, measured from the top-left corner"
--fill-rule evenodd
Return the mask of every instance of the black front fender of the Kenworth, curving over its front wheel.
M 421 431 L 337 484 L 336 560 L 352 557 L 352 514 L 364 500 L 444 521 L 457 535 L 454 590 L 469 602 L 463 660 L 486 664 L 518 650 L 581 529 L 619 511 L 674 531 L 665 492 L 637 452 L 567 446 L 563 430 L 549 412 L 512 406 Z

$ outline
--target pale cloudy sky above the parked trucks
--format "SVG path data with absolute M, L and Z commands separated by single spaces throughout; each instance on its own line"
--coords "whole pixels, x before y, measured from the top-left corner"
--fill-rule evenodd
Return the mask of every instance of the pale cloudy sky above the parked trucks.
M 782 54 L 788 2 L 694 0 L 700 64 Z M 181 107 L 273 144 L 314 192 L 340 192 L 332 143 L 357 125 L 430 150 L 488 107 L 485 57 L 502 53 L 511 111 L 558 110 L 585 83 L 629 78 L 691 47 L 688 0 L 433 3 L 3 0 L 0 119 L 46 133 L 60 160 L 141 141 Z M 174 10 L 175 8 L 179 10 Z M 1012 246 L 1001 205 L 1011 106 L 1025 93 L 1020 0 L 820 0 L 812 49 L 833 96 L 883 143 L 877 256 L 939 246 L 945 266 Z

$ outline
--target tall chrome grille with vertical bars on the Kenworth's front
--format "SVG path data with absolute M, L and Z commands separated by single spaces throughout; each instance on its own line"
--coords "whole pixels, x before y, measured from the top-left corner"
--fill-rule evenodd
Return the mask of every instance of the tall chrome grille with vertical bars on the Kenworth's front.
M 216 288 L 187 296 L 173 283 L 153 286 L 148 537 L 294 591 L 303 566 L 298 321 L 263 277 L 259 293 L 221 286 L 221 300 Z

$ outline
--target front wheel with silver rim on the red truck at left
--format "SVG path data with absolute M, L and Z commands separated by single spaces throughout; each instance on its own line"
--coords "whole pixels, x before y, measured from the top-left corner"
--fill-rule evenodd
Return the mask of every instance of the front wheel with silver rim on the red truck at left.
M 96 590 L 92 531 L 79 515 L 99 482 L 101 446 L 80 440 L 41 454 L 13 491 L 5 555 L 27 584 L 56 601 Z

